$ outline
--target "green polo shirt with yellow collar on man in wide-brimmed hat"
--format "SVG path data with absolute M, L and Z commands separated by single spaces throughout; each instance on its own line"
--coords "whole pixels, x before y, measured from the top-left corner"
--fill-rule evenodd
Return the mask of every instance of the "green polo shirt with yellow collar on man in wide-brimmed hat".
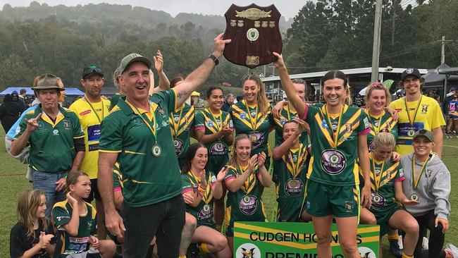
M 23 116 L 19 123 L 19 133 L 14 137 L 16 140 L 24 133 L 27 120 L 42 113 L 37 121 L 38 128 L 29 138 L 29 166 L 36 171 L 57 173 L 70 170 L 76 154 L 73 140 L 85 137 L 78 116 L 61 106 L 58 109 L 56 121 L 53 122 L 46 113 L 42 113 L 42 105 L 39 104 L 36 109 Z

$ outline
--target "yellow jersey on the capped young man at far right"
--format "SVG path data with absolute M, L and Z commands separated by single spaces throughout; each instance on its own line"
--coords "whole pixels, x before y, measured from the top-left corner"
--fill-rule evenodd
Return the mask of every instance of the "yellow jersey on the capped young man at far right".
M 425 95 L 421 95 L 421 98 L 415 102 L 407 102 L 405 97 L 396 99 L 391 102 L 390 109 L 395 109 L 399 114 L 396 152 L 402 156 L 414 151 L 412 136 L 416 131 L 420 129 L 431 131 L 445 125 L 438 102 Z

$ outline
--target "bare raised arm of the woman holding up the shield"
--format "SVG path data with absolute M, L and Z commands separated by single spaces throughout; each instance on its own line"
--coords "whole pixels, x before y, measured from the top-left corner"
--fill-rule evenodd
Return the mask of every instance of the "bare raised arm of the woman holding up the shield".
M 278 75 L 280 75 L 281 86 L 286 93 L 288 101 L 292 104 L 292 106 L 295 107 L 299 117 L 303 118 L 304 113 L 307 112 L 307 109 L 305 107 L 305 103 L 296 93 L 295 85 L 293 85 L 292 81 L 290 80 L 290 75 L 287 72 L 285 62 L 283 61 L 283 56 L 276 52 L 273 52 L 273 55 L 277 58 L 277 61 L 273 62 L 273 66 L 275 66 Z

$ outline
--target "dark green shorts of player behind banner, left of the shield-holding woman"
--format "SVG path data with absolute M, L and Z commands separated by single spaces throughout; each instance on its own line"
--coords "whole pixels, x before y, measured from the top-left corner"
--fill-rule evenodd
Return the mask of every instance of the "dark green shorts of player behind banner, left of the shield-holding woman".
M 300 222 L 302 211 L 302 202 L 304 196 L 280 198 L 277 200 L 277 221 L 278 222 Z

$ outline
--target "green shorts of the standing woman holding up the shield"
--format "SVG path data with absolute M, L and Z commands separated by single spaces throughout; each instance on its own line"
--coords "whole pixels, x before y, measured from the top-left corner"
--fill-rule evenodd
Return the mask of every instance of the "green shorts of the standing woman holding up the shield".
M 311 216 L 359 216 L 357 185 L 326 185 L 307 180 L 306 210 Z

